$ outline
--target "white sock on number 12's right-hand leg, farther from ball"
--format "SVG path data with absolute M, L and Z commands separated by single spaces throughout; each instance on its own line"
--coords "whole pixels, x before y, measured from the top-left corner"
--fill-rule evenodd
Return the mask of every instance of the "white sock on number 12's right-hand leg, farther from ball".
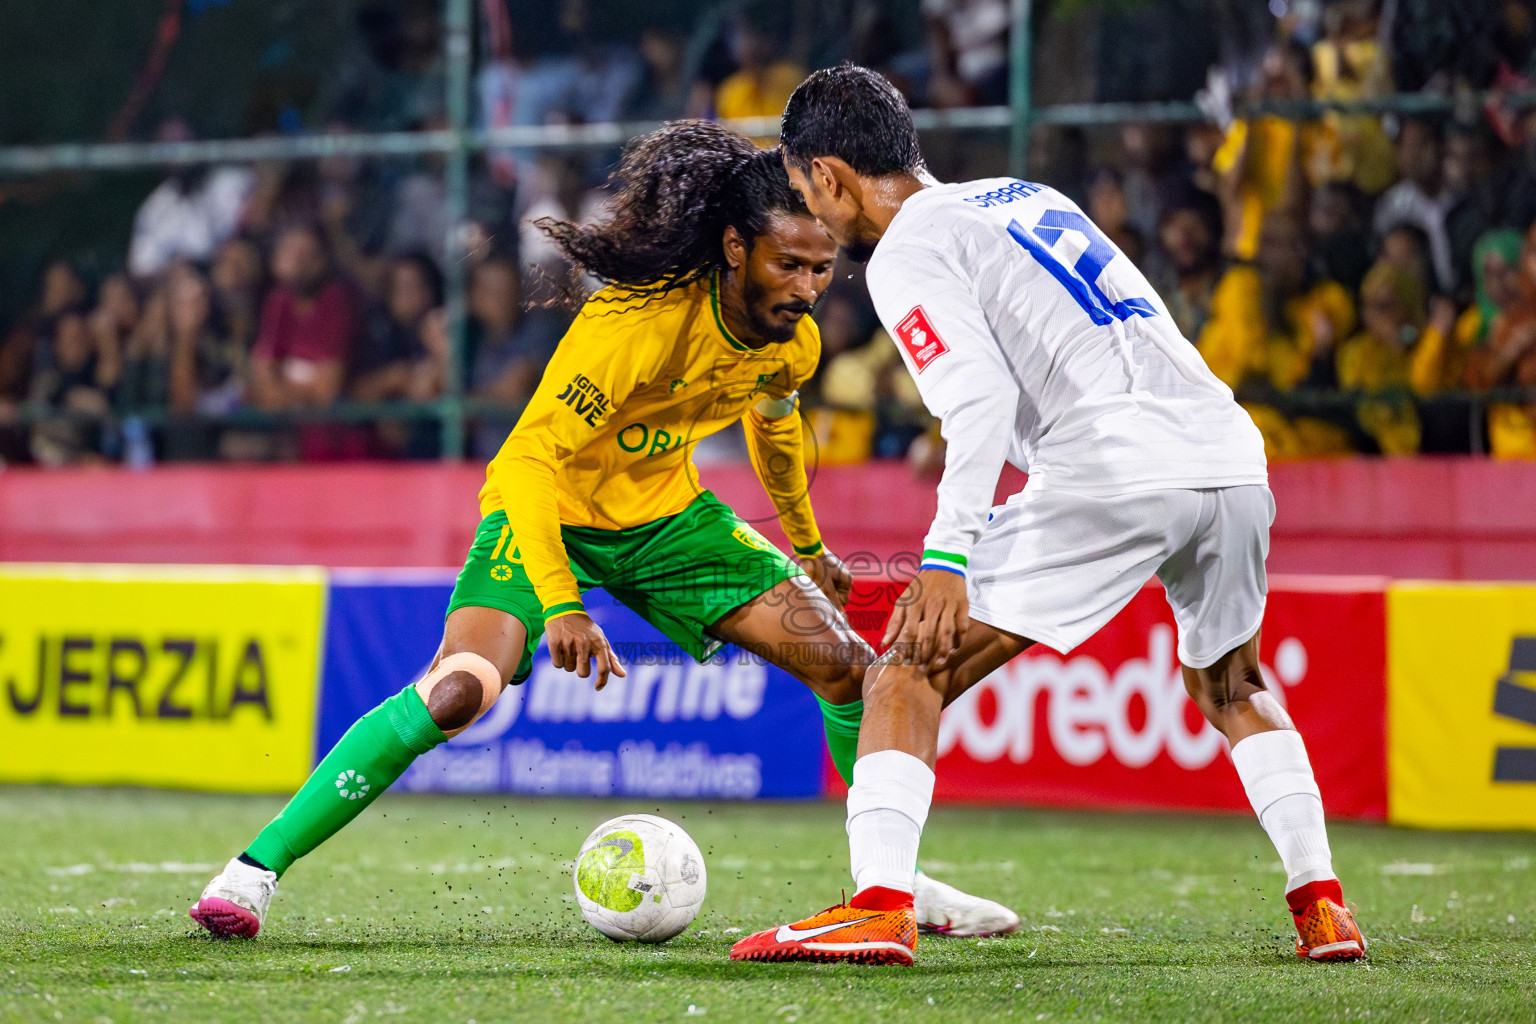
M 1336 878 L 1322 797 L 1301 734 L 1293 729 L 1256 732 L 1232 748 L 1232 763 L 1286 867 L 1286 892 L 1309 881 Z

